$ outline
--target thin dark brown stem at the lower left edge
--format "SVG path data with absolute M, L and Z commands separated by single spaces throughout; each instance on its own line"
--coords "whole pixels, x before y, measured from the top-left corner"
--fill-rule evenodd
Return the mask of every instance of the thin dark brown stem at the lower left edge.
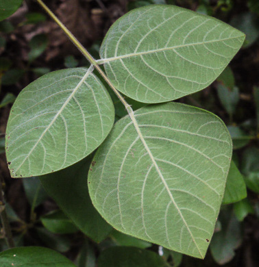
M 3 226 L 3 231 L 5 234 L 5 241 L 8 244 L 8 248 L 14 248 L 14 240 L 12 238 L 12 231 L 10 227 L 10 223 L 8 220 L 8 216 L 5 209 L 5 201 L 3 199 L 3 178 L 0 177 L 0 217 L 1 217 L 1 223 Z

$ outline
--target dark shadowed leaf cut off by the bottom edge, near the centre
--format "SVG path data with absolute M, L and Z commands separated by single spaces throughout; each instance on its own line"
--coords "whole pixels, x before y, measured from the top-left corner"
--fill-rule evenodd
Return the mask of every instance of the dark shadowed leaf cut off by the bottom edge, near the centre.
M 164 259 L 152 251 L 127 246 L 115 246 L 103 251 L 98 267 L 169 267 Z

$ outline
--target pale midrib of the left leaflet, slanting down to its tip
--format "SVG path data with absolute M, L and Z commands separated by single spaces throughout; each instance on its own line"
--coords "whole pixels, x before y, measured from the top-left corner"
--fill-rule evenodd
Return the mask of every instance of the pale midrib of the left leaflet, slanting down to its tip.
M 32 147 L 31 151 L 29 151 L 29 153 L 26 155 L 26 157 L 24 158 L 23 162 L 21 162 L 21 164 L 18 166 L 18 168 L 16 168 L 16 170 L 14 170 L 14 173 L 17 173 L 17 171 L 21 168 L 21 166 L 23 166 L 25 161 L 28 159 L 28 157 L 32 154 L 34 149 L 37 147 L 38 143 L 42 140 L 43 136 L 45 136 L 45 133 L 47 133 L 47 131 L 49 131 L 49 128 L 53 125 L 53 123 L 55 123 L 55 121 L 58 118 L 58 116 L 60 116 L 60 114 L 62 113 L 62 111 L 66 107 L 66 105 L 69 103 L 69 101 L 71 101 L 71 99 L 74 97 L 74 95 L 77 92 L 77 90 L 80 88 L 80 86 L 82 86 L 82 84 L 84 84 L 84 81 L 87 79 L 87 77 L 92 72 L 93 72 L 93 66 L 92 66 L 92 68 L 91 67 L 88 68 L 88 71 L 86 71 L 86 74 L 84 75 L 84 77 L 82 77 L 81 81 L 79 81 L 79 83 L 77 84 L 77 86 L 75 87 L 73 92 L 70 94 L 70 96 L 66 99 L 66 101 L 64 102 L 62 107 L 60 107 L 60 110 L 58 111 L 56 116 L 54 116 L 54 118 L 51 120 L 51 123 L 49 123 L 48 127 L 42 132 L 42 134 L 40 135 L 40 138 L 38 138 L 37 142 L 34 144 L 34 147 Z

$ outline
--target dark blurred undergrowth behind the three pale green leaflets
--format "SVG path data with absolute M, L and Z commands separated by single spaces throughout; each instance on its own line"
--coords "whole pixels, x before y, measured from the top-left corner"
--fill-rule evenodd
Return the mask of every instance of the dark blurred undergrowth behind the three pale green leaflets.
M 17 5 L 21 3 L 16 2 Z M 37 178 L 10 179 L 3 153 L 4 133 L 17 94 L 50 71 L 88 66 L 38 5 L 26 1 L 6 20 L 0 10 L 3 20 L 0 22 L 0 175 L 16 246 L 35 246 L 36 249 L 36 246 L 46 246 L 63 253 L 79 267 L 122 266 L 121 262 L 123 266 L 127 266 L 125 262 L 132 266 L 135 258 L 134 266 L 151 266 L 149 261 L 156 262 L 154 266 L 256 266 L 259 244 L 258 1 L 62 0 L 46 3 L 96 59 L 101 40 L 110 25 L 128 10 L 152 3 L 174 4 L 208 14 L 245 32 L 247 38 L 243 49 L 217 81 L 178 101 L 204 108 L 223 119 L 234 144 L 232 177 L 228 179 L 229 192 L 224 196 L 225 205 L 221 207 L 210 250 L 203 261 L 182 257 L 179 253 L 112 230 L 93 208 L 84 177 L 80 175 L 84 173 L 82 168 L 90 165 L 94 153 L 84 162 L 46 175 L 40 181 Z M 125 116 L 124 107 L 114 95 L 111 96 L 116 119 Z M 130 104 L 134 109 L 144 105 L 136 101 Z M 77 168 L 75 177 L 69 175 L 75 171 L 71 170 L 73 168 Z M 247 193 L 242 190 L 243 181 Z M 46 183 L 50 186 L 46 187 Z M 75 184 L 85 187 L 86 194 L 77 192 Z M 7 247 L 3 239 L 0 241 L 1 251 L 4 251 Z M 10 253 L 18 255 L 18 252 Z M 8 251 L 0 254 L 0 262 L 5 257 L 8 257 Z M 53 255 L 53 259 L 55 257 L 59 255 Z

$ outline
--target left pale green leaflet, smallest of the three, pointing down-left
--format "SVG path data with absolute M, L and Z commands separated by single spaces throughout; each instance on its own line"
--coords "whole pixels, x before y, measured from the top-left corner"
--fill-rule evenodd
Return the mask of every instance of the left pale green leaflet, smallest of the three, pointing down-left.
M 90 69 L 48 73 L 18 95 L 6 130 L 12 177 L 51 173 L 93 152 L 114 123 L 108 92 Z

